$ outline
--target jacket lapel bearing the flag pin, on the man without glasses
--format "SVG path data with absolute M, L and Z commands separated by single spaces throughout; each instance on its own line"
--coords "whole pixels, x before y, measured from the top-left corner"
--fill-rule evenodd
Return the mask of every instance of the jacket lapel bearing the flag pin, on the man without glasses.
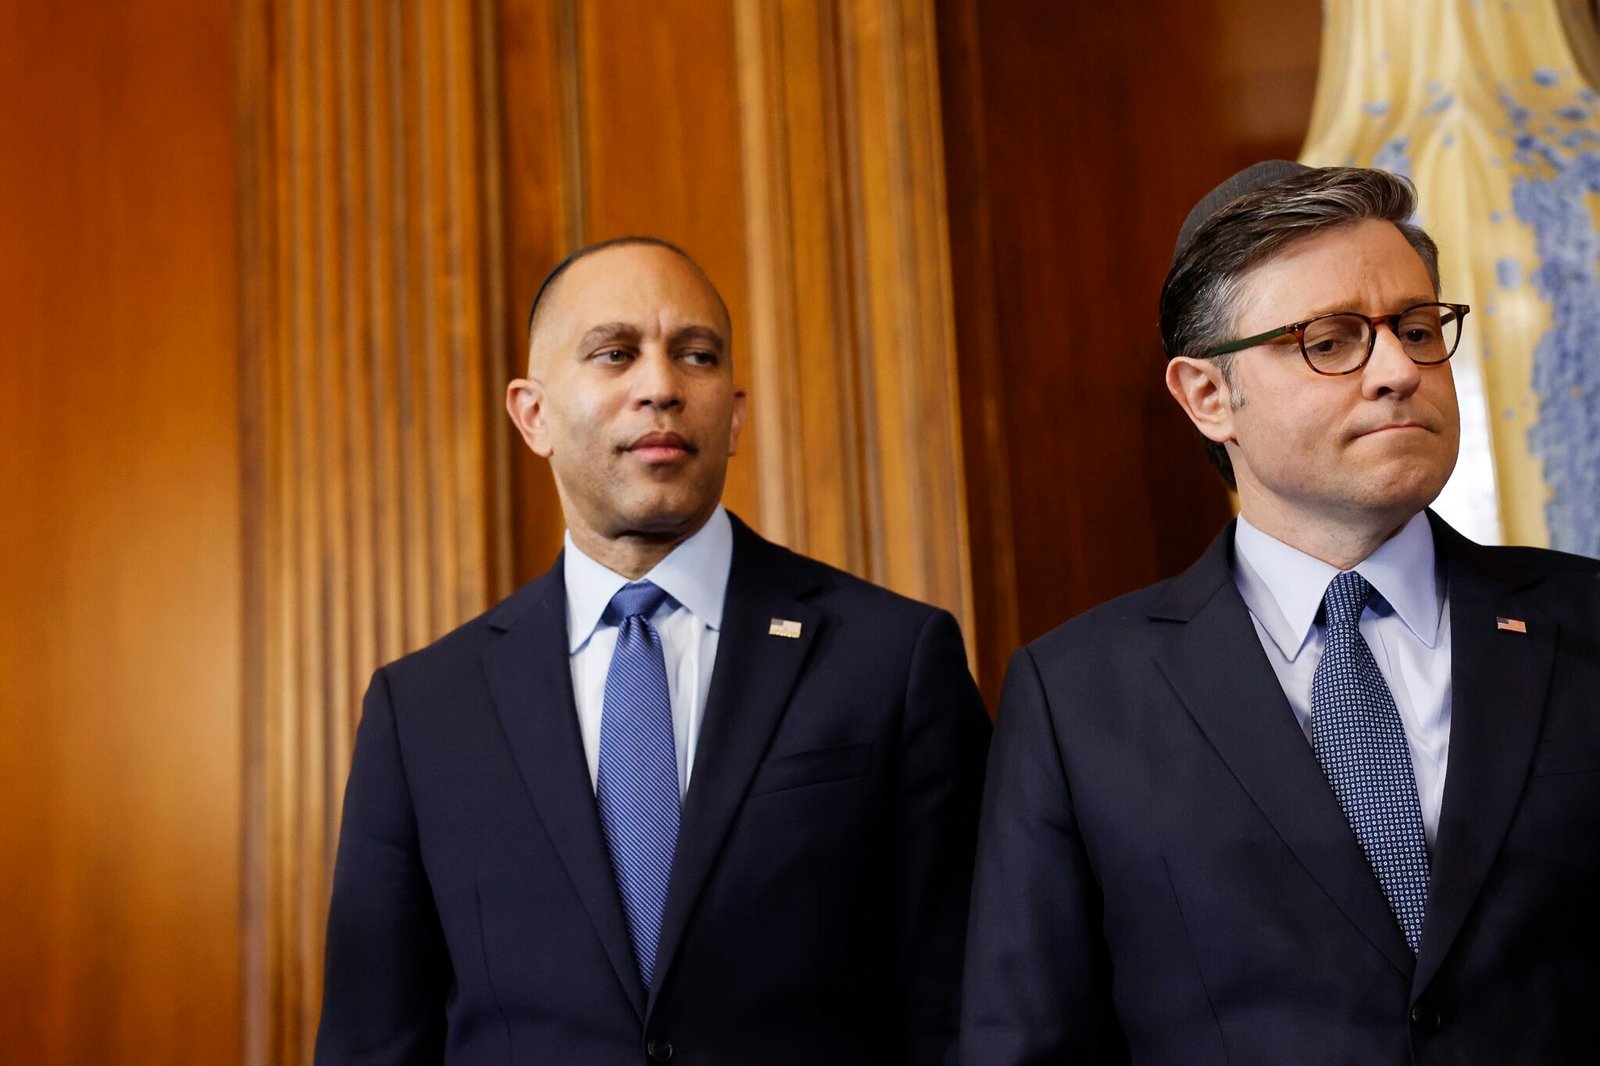
M 786 578 L 790 571 L 789 554 L 758 538 L 738 519 L 733 528 L 733 568 L 717 640 L 717 664 L 672 858 L 650 1007 L 672 967 L 750 778 L 789 704 L 789 693 L 824 626 L 822 615 L 797 599 L 803 589 Z M 770 634 L 773 621 L 800 623 L 800 635 Z

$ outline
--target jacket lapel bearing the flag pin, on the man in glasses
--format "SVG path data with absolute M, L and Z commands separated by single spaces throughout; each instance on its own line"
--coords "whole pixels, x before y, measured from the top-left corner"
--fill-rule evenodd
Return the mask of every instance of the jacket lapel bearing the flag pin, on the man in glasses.
M 1450 765 L 1413 991 L 1438 972 L 1510 828 L 1544 717 L 1555 623 L 1523 602 L 1536 573 L 1496 573 L 1490 552 L 1437 515 L 1450 575 Z M 1526 632 L 1498 629 L 1515 618 Z

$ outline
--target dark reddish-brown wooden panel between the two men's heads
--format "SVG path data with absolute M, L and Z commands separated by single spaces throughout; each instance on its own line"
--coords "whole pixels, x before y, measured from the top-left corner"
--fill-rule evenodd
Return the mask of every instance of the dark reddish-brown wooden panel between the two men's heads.
M 1318 5 L 938 8 L 994 698 L 1018 642 L 1176 573 L 1227 519 L 1162 384 L 1157 296 L 1189 206 L 1245 163 L 1299 152 Z

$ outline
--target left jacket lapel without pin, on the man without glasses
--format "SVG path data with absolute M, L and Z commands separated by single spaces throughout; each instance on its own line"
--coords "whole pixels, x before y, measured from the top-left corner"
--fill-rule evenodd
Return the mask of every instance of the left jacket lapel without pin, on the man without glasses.
M 622 991 L 643 1020 L 645 989 L 578 730 L 560 560 L 494 611 L 490 623 L 506 629 L 483 653 L 501 728 L 550 845 L 589 911 Z

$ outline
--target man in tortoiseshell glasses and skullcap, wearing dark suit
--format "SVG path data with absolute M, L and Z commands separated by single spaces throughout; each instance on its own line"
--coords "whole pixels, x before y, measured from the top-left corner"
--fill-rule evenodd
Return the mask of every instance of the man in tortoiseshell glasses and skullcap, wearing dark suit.
M 1240 517 L 1013 659 L 963 1063 L 1600 1056 L 1600 565 L 1427 511 L 1467 307 L 1413 197 L 1261 163 L 1184 224 L 1166 383 Z

